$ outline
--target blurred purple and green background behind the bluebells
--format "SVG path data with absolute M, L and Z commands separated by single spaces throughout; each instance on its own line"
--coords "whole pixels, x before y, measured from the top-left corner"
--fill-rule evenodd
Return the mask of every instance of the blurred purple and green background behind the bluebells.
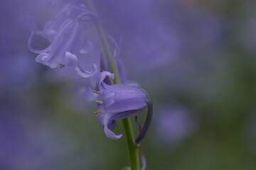
M 0 169 L 129 164 L 126 141 L 107 139 L 92 115 L 95 103 L 80 96 L 96 78 L 50 69 L 28 52 L 31 21 L 42 29 L 66 2 L 0 2 Z M 154 99 L 142 142 L 147 169 L 255 169 L 255 2 L 94 3 L 107 33 L 122 44 L 127 79 Z M 97 43 L 87 58 L 99 55 Z M 114 132 L 123 133 L 122 123 Z

